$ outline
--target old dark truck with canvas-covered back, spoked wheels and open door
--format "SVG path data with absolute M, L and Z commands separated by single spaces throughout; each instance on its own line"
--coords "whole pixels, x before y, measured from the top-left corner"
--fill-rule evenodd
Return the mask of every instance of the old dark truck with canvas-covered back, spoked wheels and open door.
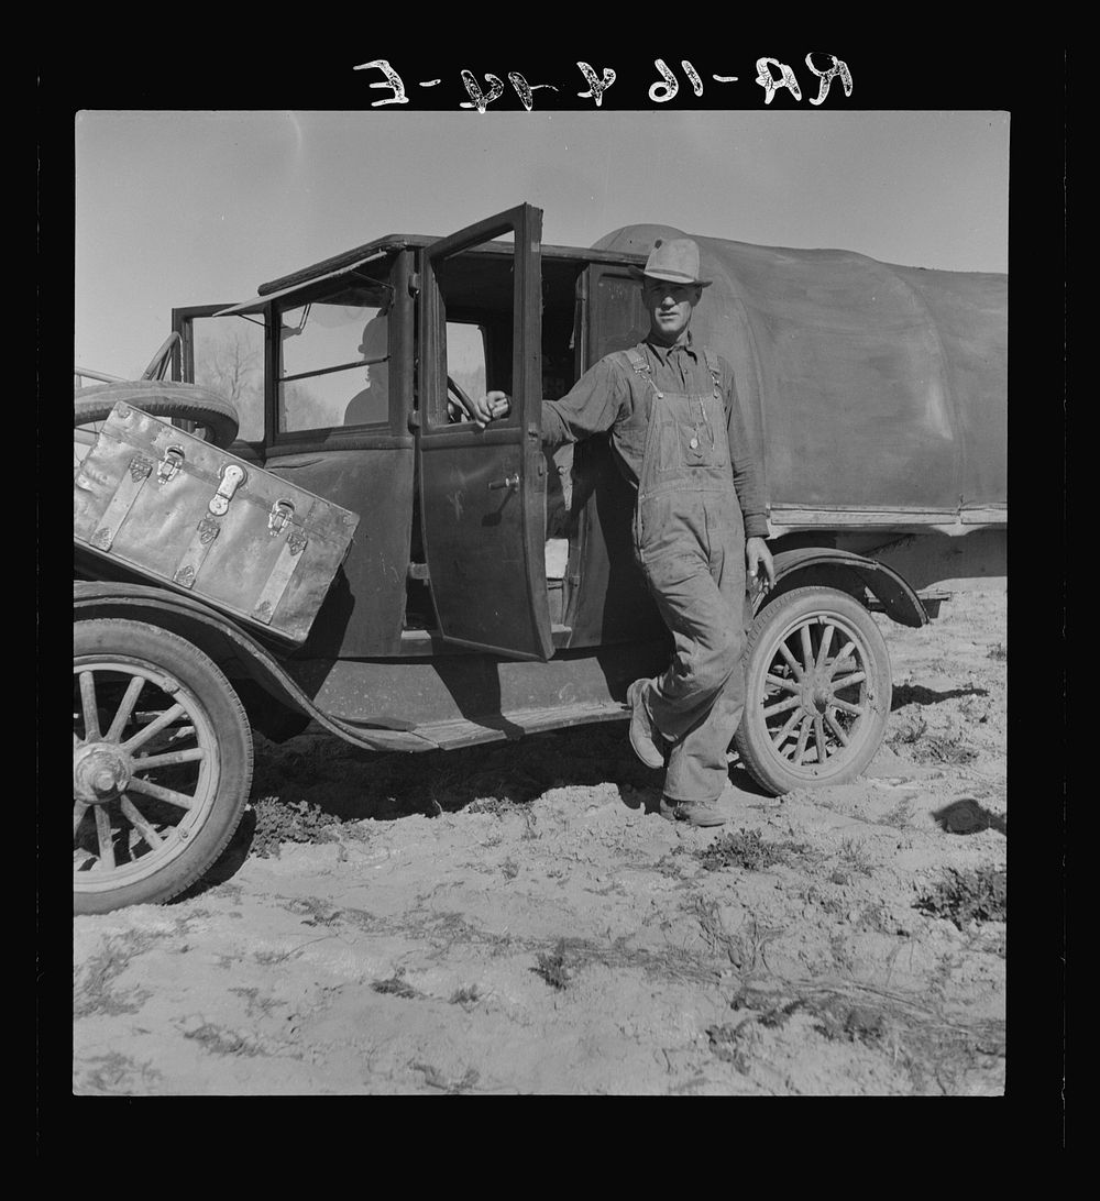
M 540 401 L 644 336 L 629 268 L 678 235 L 544 246 L 524 204 L 378 238 L 174 310 L 145 380 L 77 389 L 85 430 L 122 400 L 359 519 L 297 640 L 241 617 L 246 555 L 201 593 L 77 539 L 77 912 L 166 901 L 208 870 L 249 796 L 253 728 L 418 752 L 627 716 L 670 647 L 633 496 L 605 438 L 544 453 Z M 1003 572 L 1006 279 L 697 240 L 715 282 L 693 330 L 734 368 L 777 567 L 731 757 L 772 795 L 835 784 L 890 713 L 872 611 L 921 626 L 945 580 Z M 461 400 L 489 388 L 513 405 L 483 429 Z

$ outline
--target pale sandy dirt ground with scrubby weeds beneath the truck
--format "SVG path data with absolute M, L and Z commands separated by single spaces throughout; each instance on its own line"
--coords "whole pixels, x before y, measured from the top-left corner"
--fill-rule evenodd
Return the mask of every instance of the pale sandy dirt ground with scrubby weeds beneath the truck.
M 674 826 L 623 723 L 428 755 L 257 740 L 190 895 L 74 919 L 79 1095 L 999 1095 L 1006 593 L 877 619 L 854 784 Z

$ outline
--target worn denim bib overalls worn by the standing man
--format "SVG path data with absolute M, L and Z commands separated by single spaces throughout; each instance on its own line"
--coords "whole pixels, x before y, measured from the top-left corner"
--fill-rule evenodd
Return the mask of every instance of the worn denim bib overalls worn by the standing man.
M 712 801 L 725 788 L 725 755 L 745 709 L 741 657 L 752 613 L 718 360 L 703 353 L 713 378 L 709 396 L 658 392 L 638 351 L 616 355 L 650 387 L 634 551 L 675 644 L 668 670 L 642 691 L 672 743 L 670 801 Z

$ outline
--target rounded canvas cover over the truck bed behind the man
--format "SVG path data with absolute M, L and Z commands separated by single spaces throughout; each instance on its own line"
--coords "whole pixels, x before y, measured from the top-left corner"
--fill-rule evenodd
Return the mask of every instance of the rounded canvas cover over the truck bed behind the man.
M 1006 521 L 1008 276 L 635 225 L 596 249 L 693 237 L 712 285 L 693 337 L 733 370 L 773 509 Z

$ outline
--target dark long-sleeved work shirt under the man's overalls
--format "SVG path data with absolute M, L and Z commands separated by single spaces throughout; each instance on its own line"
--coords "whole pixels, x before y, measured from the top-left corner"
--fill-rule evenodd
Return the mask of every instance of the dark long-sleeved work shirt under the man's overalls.
M 715 390 L 706 359 L 693 345 L 691 331 L 674 346 L 659 346 L 646 339 L 635 349 L 648 364 L 658 392 L 709 396 Z M 543 442 L 557 447 L 610 430 L 611 449 L 620 470 L 636 489 L 652 390 L 636 371 L 623 371 L 611 359 L 611 355 L 602 358 L 560 400 L 543 401 Z M 745 536 L 766 538 L 763 472 L 748 443 L 734 392 L 733 369 L 721 354 L 718 368 L 734 489 L 745 518 Z

